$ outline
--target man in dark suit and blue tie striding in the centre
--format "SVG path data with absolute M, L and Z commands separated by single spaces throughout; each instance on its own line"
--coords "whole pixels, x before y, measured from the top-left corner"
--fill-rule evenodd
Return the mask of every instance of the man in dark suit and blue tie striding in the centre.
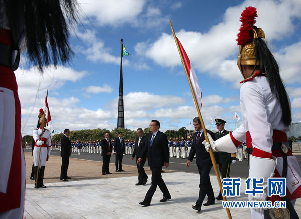
M 165 202 L 171 199 L 171 195 L 161 177 L 161 168 L 169 165 L 169 151 L 167 137 L 163 132 L 159 131 L 160 123 L 157 120 L 152 120 L 149 125 L 150 133 L 147 136 L 145 146 L 137 161 L 141 164 L 142 158 L 148 153 L 148 165 L 152 170 L 152 185 L 147 191 L 144 201 L 139 204 L 149 206 L 150 201 L 156 191 L 157 185 L 163 193 L 163 199 L 160 202 Z

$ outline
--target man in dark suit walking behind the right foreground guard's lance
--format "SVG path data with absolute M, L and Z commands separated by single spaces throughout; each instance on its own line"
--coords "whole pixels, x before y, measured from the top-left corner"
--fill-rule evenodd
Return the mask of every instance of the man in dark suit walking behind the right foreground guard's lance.
M 212 162 L 210 159 L 209 152 L 206 151 L 202 142 L 205 140 L 204 132 L 201 126 L 200 118 L 195 117 L 193 119 L 193 126 L 197 132 L 195 132 L 192 136 L 192 146 L 190 149 L 190 153 L 188 156 L 188 160 L 186 162 L 186 166 L 190 166 L 190 162 L 192 162 L 194 155 L 196 155 L 197 167 L 200 174 L 200 191 L 199 191 L 199 199 L 196 202 L 196 205 L 192 205 L 192 208 L 198 211 L 201 211 L 201 206 L 205 196 L 208 196 L 208 200 L 204 206 L 209 206 L 214 204 L 214 193 L 212 189 L 212 185 L 210 182 L 210 170 L 212 167 Z M 207 134 L 210 134 L 213 139 L 215 139 L 214 133 L 207 130 Z M 216 163 L 218 163 L 218 157 L 215 153 Z

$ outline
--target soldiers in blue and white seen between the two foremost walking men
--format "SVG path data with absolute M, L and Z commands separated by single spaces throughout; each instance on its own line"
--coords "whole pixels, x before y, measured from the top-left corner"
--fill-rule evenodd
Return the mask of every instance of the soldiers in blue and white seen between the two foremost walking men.
M 189 155 L 191 145 L 192 139 L 190 135 L 187 137 L 187 140 L 185 140 L 184 137 L 182 137 L 181 140 L 178 137 L 173 139 L 172 137 L 170 137 L 168 141 L 170 158 L 182 157 L 183 159 L 185 159 Z

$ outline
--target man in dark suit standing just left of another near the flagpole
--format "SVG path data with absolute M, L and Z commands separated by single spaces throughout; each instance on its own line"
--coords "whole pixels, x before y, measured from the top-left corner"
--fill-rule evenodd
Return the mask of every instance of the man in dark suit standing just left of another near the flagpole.
M 111 159 L 111 153 L 113 150 L 113 145 L 110 140 L 110 134 L 107 132 L 104 135 L 104 139 L 101 141 L 102 146 L 102 175 L 105 174 L 112 174 L 109 171 L 109 165 L 110 165 L 110 159 Z

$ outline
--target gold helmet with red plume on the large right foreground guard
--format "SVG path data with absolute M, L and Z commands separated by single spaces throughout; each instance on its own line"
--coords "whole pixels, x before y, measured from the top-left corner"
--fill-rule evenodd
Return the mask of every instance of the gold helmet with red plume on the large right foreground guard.
M 237 45 L 239 45 L 239 53 L 237 56 L 237 66 L 243 76 L 241 69 L 242 65 L 259 65 L 259 60 L 256 56 L 256 49 L 254 39 L 265 38 L 264 32 L 261 28 L 254 26 L 257 17 L 257 10 L 255 7 L 246 7 L 241 13 L 241 26 L 237 34 Z

